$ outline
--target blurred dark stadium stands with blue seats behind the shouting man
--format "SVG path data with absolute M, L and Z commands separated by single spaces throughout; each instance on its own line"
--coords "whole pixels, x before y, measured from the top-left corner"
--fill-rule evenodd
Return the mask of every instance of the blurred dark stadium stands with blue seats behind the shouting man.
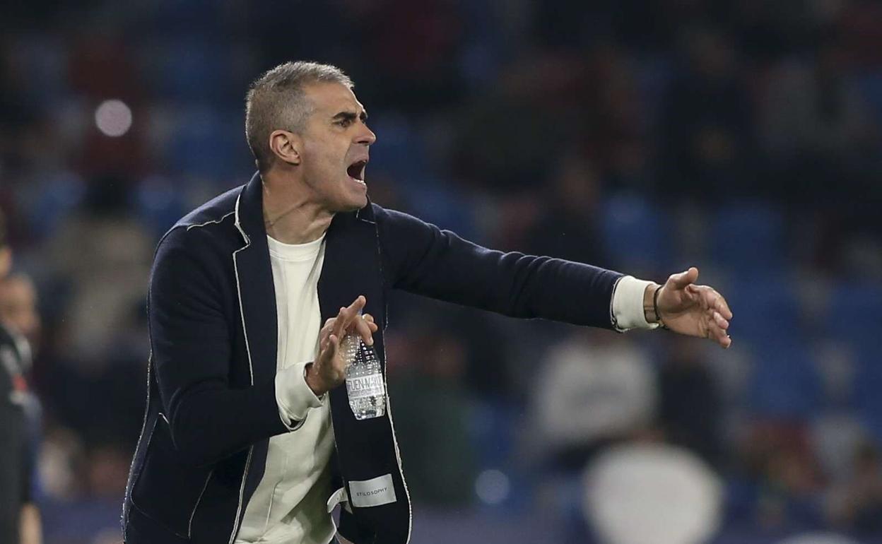
M 355 79 L 377 203 L 735 311 L 724 352 L 400 296 L 415 543 L 882 542 L 882 3 L 48 0 L 0 56 L 47 542 L 121 540 L 154 244 L 247 181 L 289 59 Z

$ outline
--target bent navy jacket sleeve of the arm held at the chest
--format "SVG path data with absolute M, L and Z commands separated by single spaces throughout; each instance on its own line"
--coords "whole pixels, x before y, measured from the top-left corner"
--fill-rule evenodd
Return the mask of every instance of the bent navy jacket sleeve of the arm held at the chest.
M 161 411 L 184 462 L 205 465 L 286 432 L 275 384 L 234 389 L 229 318 L 218 271 L 198 258 L 183 228 L 161 242 L 148 296 L 153 368 Z

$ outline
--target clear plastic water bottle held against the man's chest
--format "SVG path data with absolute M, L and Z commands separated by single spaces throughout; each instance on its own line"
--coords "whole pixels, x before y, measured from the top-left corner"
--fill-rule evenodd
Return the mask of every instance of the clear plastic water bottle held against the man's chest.
M 344 337 L 340 347 L 344 361 L 349 363 L 346 391 L 355 419 L 368 420 L 385 414 L 385 384 L 377 351 L 355 334 Z

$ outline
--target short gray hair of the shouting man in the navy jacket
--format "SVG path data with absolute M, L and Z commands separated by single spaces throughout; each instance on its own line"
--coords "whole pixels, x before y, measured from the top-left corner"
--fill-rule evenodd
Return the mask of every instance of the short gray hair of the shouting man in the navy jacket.
M 269 147 L 273 130 L 301 132 L 305 128 L 313 106 L 304 89 L 315 83 L 354 87 L 340 68 L 306 61 L 279 64 L 251 83 L 245 97 L 245 138 L 261 172 L 273 164 Z

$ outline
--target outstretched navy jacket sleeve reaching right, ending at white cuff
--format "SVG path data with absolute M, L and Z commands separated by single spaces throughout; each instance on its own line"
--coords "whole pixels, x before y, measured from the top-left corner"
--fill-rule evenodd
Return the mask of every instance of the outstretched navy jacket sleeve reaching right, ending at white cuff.
M 373 211 L 390 287 L 511 317 L 613 328 L 619 272 L 488 250 L 407 213 Z

